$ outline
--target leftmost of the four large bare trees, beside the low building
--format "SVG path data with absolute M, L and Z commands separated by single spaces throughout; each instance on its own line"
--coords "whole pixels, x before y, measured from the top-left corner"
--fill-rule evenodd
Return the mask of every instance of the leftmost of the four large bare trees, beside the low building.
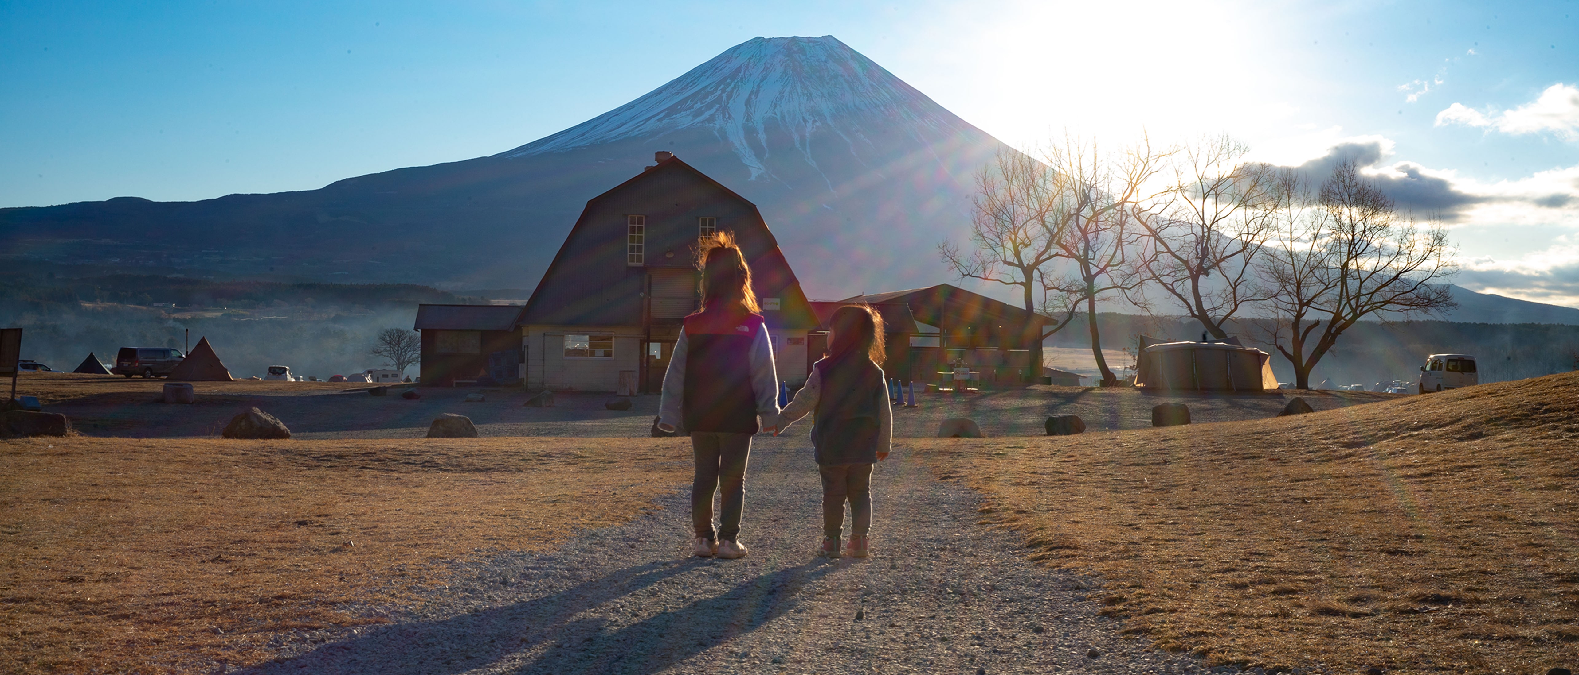
M 1026 314 L 1063 315 L 1031 347 L 1031 372 L 1042 363 L 1042 341 L 1075 317 L 1078 304 L 1052 293 L 1047 267 L 1060 255 L 1060 240 L 1069 229 L 1067 177 L 1036 158 L 1000 148 L 990 167 L 976 173 L 976 211 L 971 218 L 970 254 L 952 241 L 938 243 L 938 254 L 960 278 L 1014 287 Z

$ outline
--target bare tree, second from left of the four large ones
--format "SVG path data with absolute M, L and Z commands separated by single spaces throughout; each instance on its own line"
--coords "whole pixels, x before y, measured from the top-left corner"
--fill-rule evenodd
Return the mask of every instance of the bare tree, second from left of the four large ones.
M 1067 213 L 1067 227 L 1056 241 L 1064 270 L 1044 276 L 1044 282 L 1047 292 L 1085 304 L 1091 355 L 1102 372 L 1102 386 L 1116 385 L 1118 377 L 1102 355 L 1096 306 L 1101 300 L 1132 293 L 1145 281 L 1132 259 L 1142 230 L 1135 222 L 1137 205 L 1150 200 L 1143 189 L 1165 158 L 1165 151 L 1154 151 L 1146 142 L 1108 156 L 1094 142 L 1071 139 L 1047 156 L 1053 170 L 1067 177 L 1069 188 L 1060 207 Z

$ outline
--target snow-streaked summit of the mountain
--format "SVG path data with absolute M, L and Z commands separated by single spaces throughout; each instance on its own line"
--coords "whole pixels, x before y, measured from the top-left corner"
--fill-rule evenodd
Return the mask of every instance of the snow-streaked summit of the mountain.
M 772 147 L 774 128 L 812 164 L 816 159 L 810 142 L 820 131 L 835 134 L 856 156 L 868 155 L 870 136 L 883 128 L 981 134 L 861 52 L 824 35 L 752 38 L 632 103 L 502 155 L 562 153 L 706 129 L 726 142 L 756 180 L 769 173 L 766 156 L 788 150 Z

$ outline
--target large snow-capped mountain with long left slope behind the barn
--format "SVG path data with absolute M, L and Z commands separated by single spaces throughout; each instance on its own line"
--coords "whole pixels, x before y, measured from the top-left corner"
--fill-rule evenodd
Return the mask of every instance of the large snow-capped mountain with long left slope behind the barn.
M 587 199 L 666 150 L 758 205 L 812 296 L 952 279 L 973 173 L 1006 148 L 834 36 L 755 38 L 513 150 L 302 192 L 0 210 L 13 260 L 535 285 Z

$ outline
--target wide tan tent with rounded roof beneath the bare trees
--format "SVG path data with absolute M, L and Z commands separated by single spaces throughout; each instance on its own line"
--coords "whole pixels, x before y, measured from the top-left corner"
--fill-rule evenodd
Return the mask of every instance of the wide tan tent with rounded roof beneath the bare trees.
M 1195 391 L 1277 388 L 1271 356 L 1227 342 L 1162 342 L 1140 350 L 1135 386 Z

